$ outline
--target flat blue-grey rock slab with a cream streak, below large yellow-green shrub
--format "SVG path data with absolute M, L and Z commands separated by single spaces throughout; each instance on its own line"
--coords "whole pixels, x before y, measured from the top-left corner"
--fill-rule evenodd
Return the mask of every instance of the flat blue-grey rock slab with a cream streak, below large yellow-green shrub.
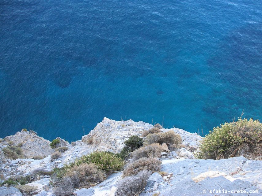
M 252 167 L 247 170 L 246 165 L 252 165 Z M 157 191 L 161 193 L 160 196 L 173 196 L 174 193 L 176 195 L 194 196 L 262 195 L 262 161 L 247 160 L 244 157 L 218 161 L 203 159 L 165 160 L 162 161 L 161 171 L 173 173 L 173 176 L 170 183 L 158 186 Z M 254 190 L 258 193 L 229 192 L 235 190 Z

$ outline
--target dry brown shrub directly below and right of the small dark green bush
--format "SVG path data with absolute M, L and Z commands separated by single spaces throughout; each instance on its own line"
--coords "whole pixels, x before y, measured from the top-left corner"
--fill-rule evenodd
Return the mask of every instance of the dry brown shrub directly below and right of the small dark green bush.
M 142 157 L 160 157 L 162 151 L 163 149 L 158 143 L 142 146 L 132 153 L 132 161 Z

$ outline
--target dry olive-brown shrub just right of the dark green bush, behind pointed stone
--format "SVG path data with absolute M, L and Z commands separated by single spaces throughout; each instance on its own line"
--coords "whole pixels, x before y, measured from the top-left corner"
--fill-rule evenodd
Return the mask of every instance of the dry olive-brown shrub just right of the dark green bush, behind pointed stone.
M 149 145 L 153 143 L 159 143 L 159 144 L 166 143 L 169 149 L 172 150 L 180 146 L 182 139 L 181 136 L 179 134 L 176 134 L 174 131 L 167 131 L 167 132 L 149 134 L 146 136 L 144 142 L 145 145 Z

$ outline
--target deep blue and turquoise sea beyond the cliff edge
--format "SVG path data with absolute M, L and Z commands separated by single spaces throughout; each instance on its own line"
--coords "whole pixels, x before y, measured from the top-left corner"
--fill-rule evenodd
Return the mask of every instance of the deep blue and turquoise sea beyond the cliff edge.
M 261 0 L 2 0 L 0 25 L 0 137 L 261 120 Z

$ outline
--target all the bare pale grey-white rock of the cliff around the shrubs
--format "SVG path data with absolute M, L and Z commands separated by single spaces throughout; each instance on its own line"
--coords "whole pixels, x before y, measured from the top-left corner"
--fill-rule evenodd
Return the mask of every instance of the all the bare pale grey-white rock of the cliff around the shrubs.
M 89 135 L 84 135 L 82 140 L 76 141 L 74 146 L 61 139 L 61 145 L 68 147 L 62 152 L 61 157 L 52 160 L 50 154 L 55 149 L 50 148 L 50 141 L 45 140 L 28 131 L 17 132 L 13 136 L 8 136 L 5 141 L 0 142 L 0 172 L 1 182 L 10 176 L 26 176 L 35 169 L 45 169 L 51 171 L 55 167 L 63 167 L 74 161 L 75 158 L 93 152 L 94 150 L 105 150 L 120 152 L 124 147 L 123 142 L 131 135 L 142 135 L 142 132 L 152 128 L 151 124 L 133 120 L 115 121 L 104 118 L 101 123 L 90 131 Z M 249 160 L 244 157 L 234 157 L 223 160 L 200 160 L 195 159 L 194 151 L 198 149 L 202 137 L 196 133 L 189 133 L 182 129 L 171 128 L 161 129 L 161 131 L 174 131 L 180 134 L 182 146 L 179 149 L 169 152 L 165 148 L 161 153 L 161 171 L 166 175 L 153 173 L 147 181 L 147 186 L 140 196 L 173 196 L 173 195 L 232 195 L 236 193 L 213 193 L 214 189 L 222 191 L 229 190 L 254 190 L 258 193 L 237 194 L 237 195 L 260 195 L 262 194 L 262 161 Z M 22 139 L 21 139 L 22 138 Z M 92 141 L 90 142 L 90 138 Z M 60 139 L 60 138 L 58 138 Z M 32 158 L 9 160 L 3 156 L 2 148 L 8 141 L 13 141 L 14 145 L 23 142 L 22 149 L 26 156 L 45 155 L 39 160 Z M 29 149 L 41 148 L 41 152 Z M 167 147 L 167 146 L 165 146 Z M 117 189 L 116 184 L 122 178 L 122 172 L 115 172 L 108 178 L 91 187 L 74 190 L 77 196 L 113 196 Z M 31 183 L 38 187 L 35 196 L 55 196 L 52 192 L 52 185 L 49 183 L 49 176 Z M 30 183 L 29 183 L 30 185 Z M 206 191 L 206 193 L 204 193 Z M 14 187 L 0 187 L 0 195 L 21 196 L 20 191 Z

